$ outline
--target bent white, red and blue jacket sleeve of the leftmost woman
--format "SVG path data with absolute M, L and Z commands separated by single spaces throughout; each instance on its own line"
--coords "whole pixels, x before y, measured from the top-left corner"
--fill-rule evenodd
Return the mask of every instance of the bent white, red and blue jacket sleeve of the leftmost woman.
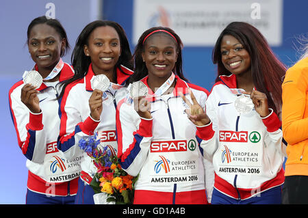
M 34 114 L 21 102 L 21 85 L 13 86 L 9 93 L 10 113 L 16 130 L 18 146 L 27 159 L 43 163 L 46 154 L 46 133 L 42 113 Z

